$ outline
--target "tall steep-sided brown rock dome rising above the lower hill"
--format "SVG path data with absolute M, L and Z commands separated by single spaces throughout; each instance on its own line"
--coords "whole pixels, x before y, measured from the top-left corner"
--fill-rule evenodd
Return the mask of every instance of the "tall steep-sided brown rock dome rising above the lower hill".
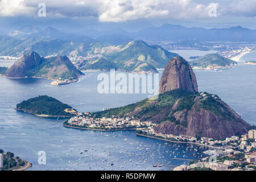
M 159 94 L 175 89 L 198 92 L 195 73 L 187 61 L 180 56 L 172 58 L 164 68 L 159 84 Z

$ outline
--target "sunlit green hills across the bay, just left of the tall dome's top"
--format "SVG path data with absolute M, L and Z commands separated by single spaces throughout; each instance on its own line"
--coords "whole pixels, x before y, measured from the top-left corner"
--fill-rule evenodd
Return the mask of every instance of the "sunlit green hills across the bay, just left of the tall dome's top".
M 86 60 L 86 63 L 81 64 L 81 69 L 107 70 L 111 66 L 119 71 L 157 72 L 156 68 L 164 68 L 172 57 L 177 56 L 176 53 L 168 52 L 160 46 L 149 46 L 142 40 L 131 41 L 120 46 L 94 47 L 92 49 L 102 55 L 104 60 L 101 60 L 100 63 L 103 65 L 98 64 L 95 60 Z

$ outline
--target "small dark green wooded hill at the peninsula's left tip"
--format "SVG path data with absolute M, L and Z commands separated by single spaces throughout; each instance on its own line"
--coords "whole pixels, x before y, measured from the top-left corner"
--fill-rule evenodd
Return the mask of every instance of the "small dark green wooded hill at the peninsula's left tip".
M 22 110 L 31 114 L 72 117 L 75 114 L 67 113 L 64 109 L 72 109 L 71 106 L 63 104 L 55 98 L 39 96 L 22 101 L 16 105 L 17 110 Z

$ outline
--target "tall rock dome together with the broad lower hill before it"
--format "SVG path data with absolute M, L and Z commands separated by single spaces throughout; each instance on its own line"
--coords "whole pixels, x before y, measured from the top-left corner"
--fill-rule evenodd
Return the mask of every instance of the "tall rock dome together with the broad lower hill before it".
M 172 58 L 164 68 L 156 100 L 95 113 L 98 117 L 120 115 L 158 123 L 157 133 L 222 139 L 247 133 L 243 121 L 216 94 L 199 93 L 190 65 L 181 57 Z

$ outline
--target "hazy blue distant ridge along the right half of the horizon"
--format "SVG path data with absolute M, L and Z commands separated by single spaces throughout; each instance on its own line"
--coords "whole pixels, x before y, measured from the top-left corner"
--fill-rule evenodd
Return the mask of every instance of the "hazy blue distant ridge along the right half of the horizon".
M 134 39 L 146 40 L 197 40 L 197 41 L 230 41 L 255 42 L 256 30 L 241 26 L 231 28 L 187 28 L 180 25 L 164 24 L 161 27 L 144 28 L 131 34 Z

